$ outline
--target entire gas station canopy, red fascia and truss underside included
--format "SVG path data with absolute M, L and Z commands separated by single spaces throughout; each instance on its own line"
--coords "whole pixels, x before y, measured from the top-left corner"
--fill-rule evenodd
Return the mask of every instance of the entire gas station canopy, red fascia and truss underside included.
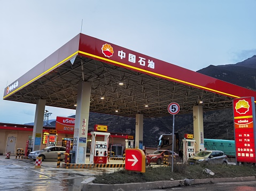
M 80 81 L 91 84 L 90 112 L 126 117 L 169 115 L 173 102 L 184 114 L 199 104 L 210 111 L 232 107 L 234 98 L 256 98 L 253 90 L 83 34 L 7 86 L 3 98 L 75 109 Z

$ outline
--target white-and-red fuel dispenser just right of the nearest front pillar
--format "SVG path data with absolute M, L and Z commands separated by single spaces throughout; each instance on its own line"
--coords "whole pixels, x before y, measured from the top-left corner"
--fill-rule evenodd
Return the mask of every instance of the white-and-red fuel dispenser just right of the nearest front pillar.
M 97 129 L 99 129 L 99 125 L 97 125 Z M 90 164 L 106 164 L 108 136 L 110 136 L 110 133 L 92 131 L 91 136 L 92 136 L 92 139 L 91 139 Z M 103 139 L 103 140 L 96 140 L 97 136 L 99 137 L 99 139 Z

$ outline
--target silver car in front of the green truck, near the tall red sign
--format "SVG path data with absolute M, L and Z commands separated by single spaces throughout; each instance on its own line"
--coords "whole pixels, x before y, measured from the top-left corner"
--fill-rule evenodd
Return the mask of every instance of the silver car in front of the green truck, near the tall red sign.
M 200 151 L 196 155 L 189 157 L 189 164 L 199 164 L 203 162 L 213 164 L 228 164 L 227 156 L 223 151 Z

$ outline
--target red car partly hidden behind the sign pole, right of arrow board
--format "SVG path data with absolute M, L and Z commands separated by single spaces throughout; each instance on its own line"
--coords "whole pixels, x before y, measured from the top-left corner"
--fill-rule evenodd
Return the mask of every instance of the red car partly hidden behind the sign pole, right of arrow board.
M 148 164 L 150 163 L 161 164 L 162 162 L 164 162 L 164 155 L 172 156 L 172 154 L 175 157 L 175 159 L 179 159 L 179 154 L 176 154 L 175 152 L 169 151 L 169 150 L 154 151 L 153 154 L 146 155 L 146 159 L 148 159 Z

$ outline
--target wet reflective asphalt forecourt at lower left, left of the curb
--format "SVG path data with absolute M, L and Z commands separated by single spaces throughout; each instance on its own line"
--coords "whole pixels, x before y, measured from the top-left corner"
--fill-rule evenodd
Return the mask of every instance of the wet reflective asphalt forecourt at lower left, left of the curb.
M 60 162 L 61 164 L 64 163 Z M 80 190 L 81 182 L 103 172 L 114 172 L 116 168 L 64 169 L 57 168 L 57 160 L 42 161 L 35 168 L 35 161 L 27 159 L 5 159 L 0 156 L 0 190 L 49 191 Z

